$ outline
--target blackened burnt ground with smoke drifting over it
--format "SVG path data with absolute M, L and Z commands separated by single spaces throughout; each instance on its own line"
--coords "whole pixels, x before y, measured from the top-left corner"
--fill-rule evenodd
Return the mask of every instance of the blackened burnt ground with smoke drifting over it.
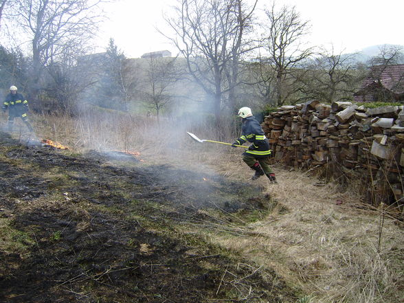
M 197 232 L 267 212 L 260 192 L 0 132 L 0 302 L 296 302 L 273 271 Z

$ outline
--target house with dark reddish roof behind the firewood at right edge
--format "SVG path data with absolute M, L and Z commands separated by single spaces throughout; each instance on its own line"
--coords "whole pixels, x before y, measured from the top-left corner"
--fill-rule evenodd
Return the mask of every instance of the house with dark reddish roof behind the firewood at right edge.
M 355 102 L 404 102 L 404 64 L 377 65 L 370 69 Z

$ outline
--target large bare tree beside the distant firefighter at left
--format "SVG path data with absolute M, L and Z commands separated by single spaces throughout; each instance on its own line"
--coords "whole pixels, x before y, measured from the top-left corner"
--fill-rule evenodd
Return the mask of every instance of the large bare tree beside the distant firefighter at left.
M 99 5 L 106 0 L 16 0 L 15 14 L 32 41 L 30 99 L 41 89 L 40 79 L 47 65 L 54 65 L 65 54 L 83 52 L 96 33 Z

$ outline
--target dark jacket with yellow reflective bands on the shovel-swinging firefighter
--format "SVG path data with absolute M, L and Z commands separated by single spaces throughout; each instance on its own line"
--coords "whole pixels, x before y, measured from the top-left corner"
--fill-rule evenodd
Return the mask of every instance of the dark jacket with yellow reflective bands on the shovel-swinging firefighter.
M 254 148 L 253 150 L 246 150 L 243 155 L 249 155 L 256 158 L 268 157 L 271 155 L 268 139 L 265 137 L 262 127 L 254 116 L 243 119 L 241 137 L 236 139 L 236 142 L 238 142 L 239 145 L 243 145 L 247 141 L 251 142 Z

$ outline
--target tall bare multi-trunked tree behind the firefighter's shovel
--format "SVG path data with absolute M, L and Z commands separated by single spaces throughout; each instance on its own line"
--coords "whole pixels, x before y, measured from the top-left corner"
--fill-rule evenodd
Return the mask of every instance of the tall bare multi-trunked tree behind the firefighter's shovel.
M 166 18 L 177 37 L 170 38 L 186 58 L 192 79 L 213 100 L 217 120 L 225 105 L 234 107 L 234 88 L 240 84 L 239 63 L 251 44 L 256 2 L 247 8 L 243 0 L 180 0 L 176 16 Z

